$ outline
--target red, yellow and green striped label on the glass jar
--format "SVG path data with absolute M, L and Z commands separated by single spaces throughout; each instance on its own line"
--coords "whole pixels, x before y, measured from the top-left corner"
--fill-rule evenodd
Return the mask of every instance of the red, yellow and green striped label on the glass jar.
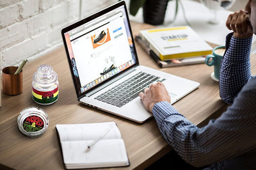
M 38 104 L 52 104 L 58 100 L 59 86 L 52 91 L 38 91 L 32 88 L 32 98 Z

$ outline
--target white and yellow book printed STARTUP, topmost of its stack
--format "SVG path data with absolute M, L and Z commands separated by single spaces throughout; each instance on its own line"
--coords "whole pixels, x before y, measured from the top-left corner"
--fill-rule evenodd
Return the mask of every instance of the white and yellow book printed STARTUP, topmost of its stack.
M 144 29 L 140 37 L 162 61 L 212 53 L 212 47 L 189 26 Z

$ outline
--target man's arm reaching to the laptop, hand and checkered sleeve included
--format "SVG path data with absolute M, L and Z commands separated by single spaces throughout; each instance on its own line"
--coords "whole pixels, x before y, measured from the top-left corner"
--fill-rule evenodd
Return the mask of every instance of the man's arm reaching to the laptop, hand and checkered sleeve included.
M 202 128 L 193 125 L 172 107 L 170 101 L 167 101 L 168 93 L 160 95 L 166 90 L 163 83 L 150 85 L 145 93 L 140 93 L 140 97 L 148 111 L 153 112 L 166 142 L 186 162 L 200 167 L 234 157 L 255 147 L 256 135 L 253 129 L 256 128 L 256 100 L 252 100 L 256 96 L 255 84 L 256 79 L 246 84 L 227 112 Z

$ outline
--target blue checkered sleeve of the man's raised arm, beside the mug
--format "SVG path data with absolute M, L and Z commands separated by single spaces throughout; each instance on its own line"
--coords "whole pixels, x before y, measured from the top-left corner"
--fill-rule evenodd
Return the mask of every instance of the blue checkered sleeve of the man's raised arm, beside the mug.
M 251 78 L 250 52 L 252 38 L 226 38 L 226 52 L 220 68 L 220 97 L 232 104 L 238 92 Z

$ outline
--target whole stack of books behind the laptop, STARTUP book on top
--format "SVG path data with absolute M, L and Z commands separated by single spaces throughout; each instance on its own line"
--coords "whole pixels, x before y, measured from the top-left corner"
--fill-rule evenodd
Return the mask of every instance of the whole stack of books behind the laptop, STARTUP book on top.
M 135 40 L 161 67 L 204 63 L 212 47 L 189 26 L 144 29 Z

